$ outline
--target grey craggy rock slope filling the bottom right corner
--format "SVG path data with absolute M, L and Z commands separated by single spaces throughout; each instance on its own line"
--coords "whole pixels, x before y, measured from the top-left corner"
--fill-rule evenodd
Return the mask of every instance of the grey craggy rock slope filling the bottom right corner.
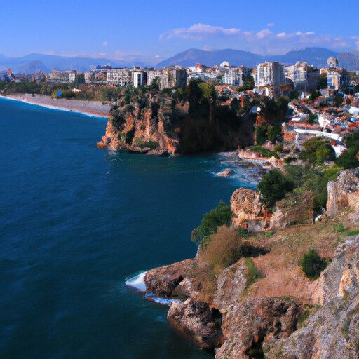
M 323 305 L 288 339 L 264 346 L 266 358 L 359 357 L 359 236 L 341 245 L 315 295 Z

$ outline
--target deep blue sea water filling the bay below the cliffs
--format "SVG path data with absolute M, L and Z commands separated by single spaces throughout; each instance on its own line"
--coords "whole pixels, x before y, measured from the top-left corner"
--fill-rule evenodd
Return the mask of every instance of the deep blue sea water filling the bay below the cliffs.
M 191 230 L 245 170 L 100 150 L 105 126 L 0 99 L 0 358 L 213 358 L 125 281 L 193 257 Z

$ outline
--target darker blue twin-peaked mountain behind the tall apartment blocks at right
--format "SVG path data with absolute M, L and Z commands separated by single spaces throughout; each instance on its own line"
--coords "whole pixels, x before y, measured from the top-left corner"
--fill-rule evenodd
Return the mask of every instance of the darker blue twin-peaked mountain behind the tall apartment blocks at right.
M 328 57 L 337 57 L 338 53 L 326 48 L 304 48 L 302 50 L 293 50 L 285 55 L 256 55 L 248 51 L 241 50 L 217 50 L 203 51 L 196 48 L 190 48 L 187 51 L 178 53 L 156 65 L 157 68 L 179 65 L 183 67 L 194 66 L 196 62 L 201 65 L 213 66 L 227 61 L 229 65 L 246 67 L 255 67 L 261 62 L 278 61 L 283 65 L 294 65 L 297 61 L 305 61 L 309 65 L 316 67 L 325 67 Z

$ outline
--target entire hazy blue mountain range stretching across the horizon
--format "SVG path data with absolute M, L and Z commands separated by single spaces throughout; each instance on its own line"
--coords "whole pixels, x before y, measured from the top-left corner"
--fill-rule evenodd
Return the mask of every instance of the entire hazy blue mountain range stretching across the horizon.
M 154 66 L 153 60 L 146 57 L 127 57 L 126 60 L 113 60 L 109 58 L 94 57 L 65 57 L 57 55 L 43 55 L 32 53 L 22 57 L 7 57 L 0 54 L 0 71 L 12 69 L 15 73 L 32 73 L 36 70 L 50 72 L 53 67 L 59 71 L 74 69 L 76 71 L 89 71 L 97 65 L 111 64 L 112 67 L 156 67 L 161 69 L 171 65 L 182 67 L 194 66 L 196 62 L 201 65 L 219 65 L 227 61 L 229 65 L 245 67 L 255 67 L 261 62 L 278 61 L 283 65 L 294 65 L 297 61 L 305 61 L 309 65 L 316 67 L 327 67 L 327 58 L 337 57 L 339 66 L 349 71 L 359 70 L 359 51 L 344 51 L 336 53 L 326 48 L 304 48 L 302 50 L 292 50 L 285 55 L 257 55 L 242 50 L 215 50 L 204 51 L 197 48 L 190 48 L 182 53 L 163 60 Z

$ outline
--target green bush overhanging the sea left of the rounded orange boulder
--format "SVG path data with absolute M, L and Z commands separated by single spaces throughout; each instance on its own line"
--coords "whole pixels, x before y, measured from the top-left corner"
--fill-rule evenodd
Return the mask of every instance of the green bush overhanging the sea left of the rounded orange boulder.
M 191 233 L 191 241 L 204 247 L 210 242 L 210 236 L 217 231 L 219 226 L 223 224 L 229 225 L 232 219 L 231 206 L 224 202 L 210 212 L 203 215 L 201 225 L 194 229 Z

